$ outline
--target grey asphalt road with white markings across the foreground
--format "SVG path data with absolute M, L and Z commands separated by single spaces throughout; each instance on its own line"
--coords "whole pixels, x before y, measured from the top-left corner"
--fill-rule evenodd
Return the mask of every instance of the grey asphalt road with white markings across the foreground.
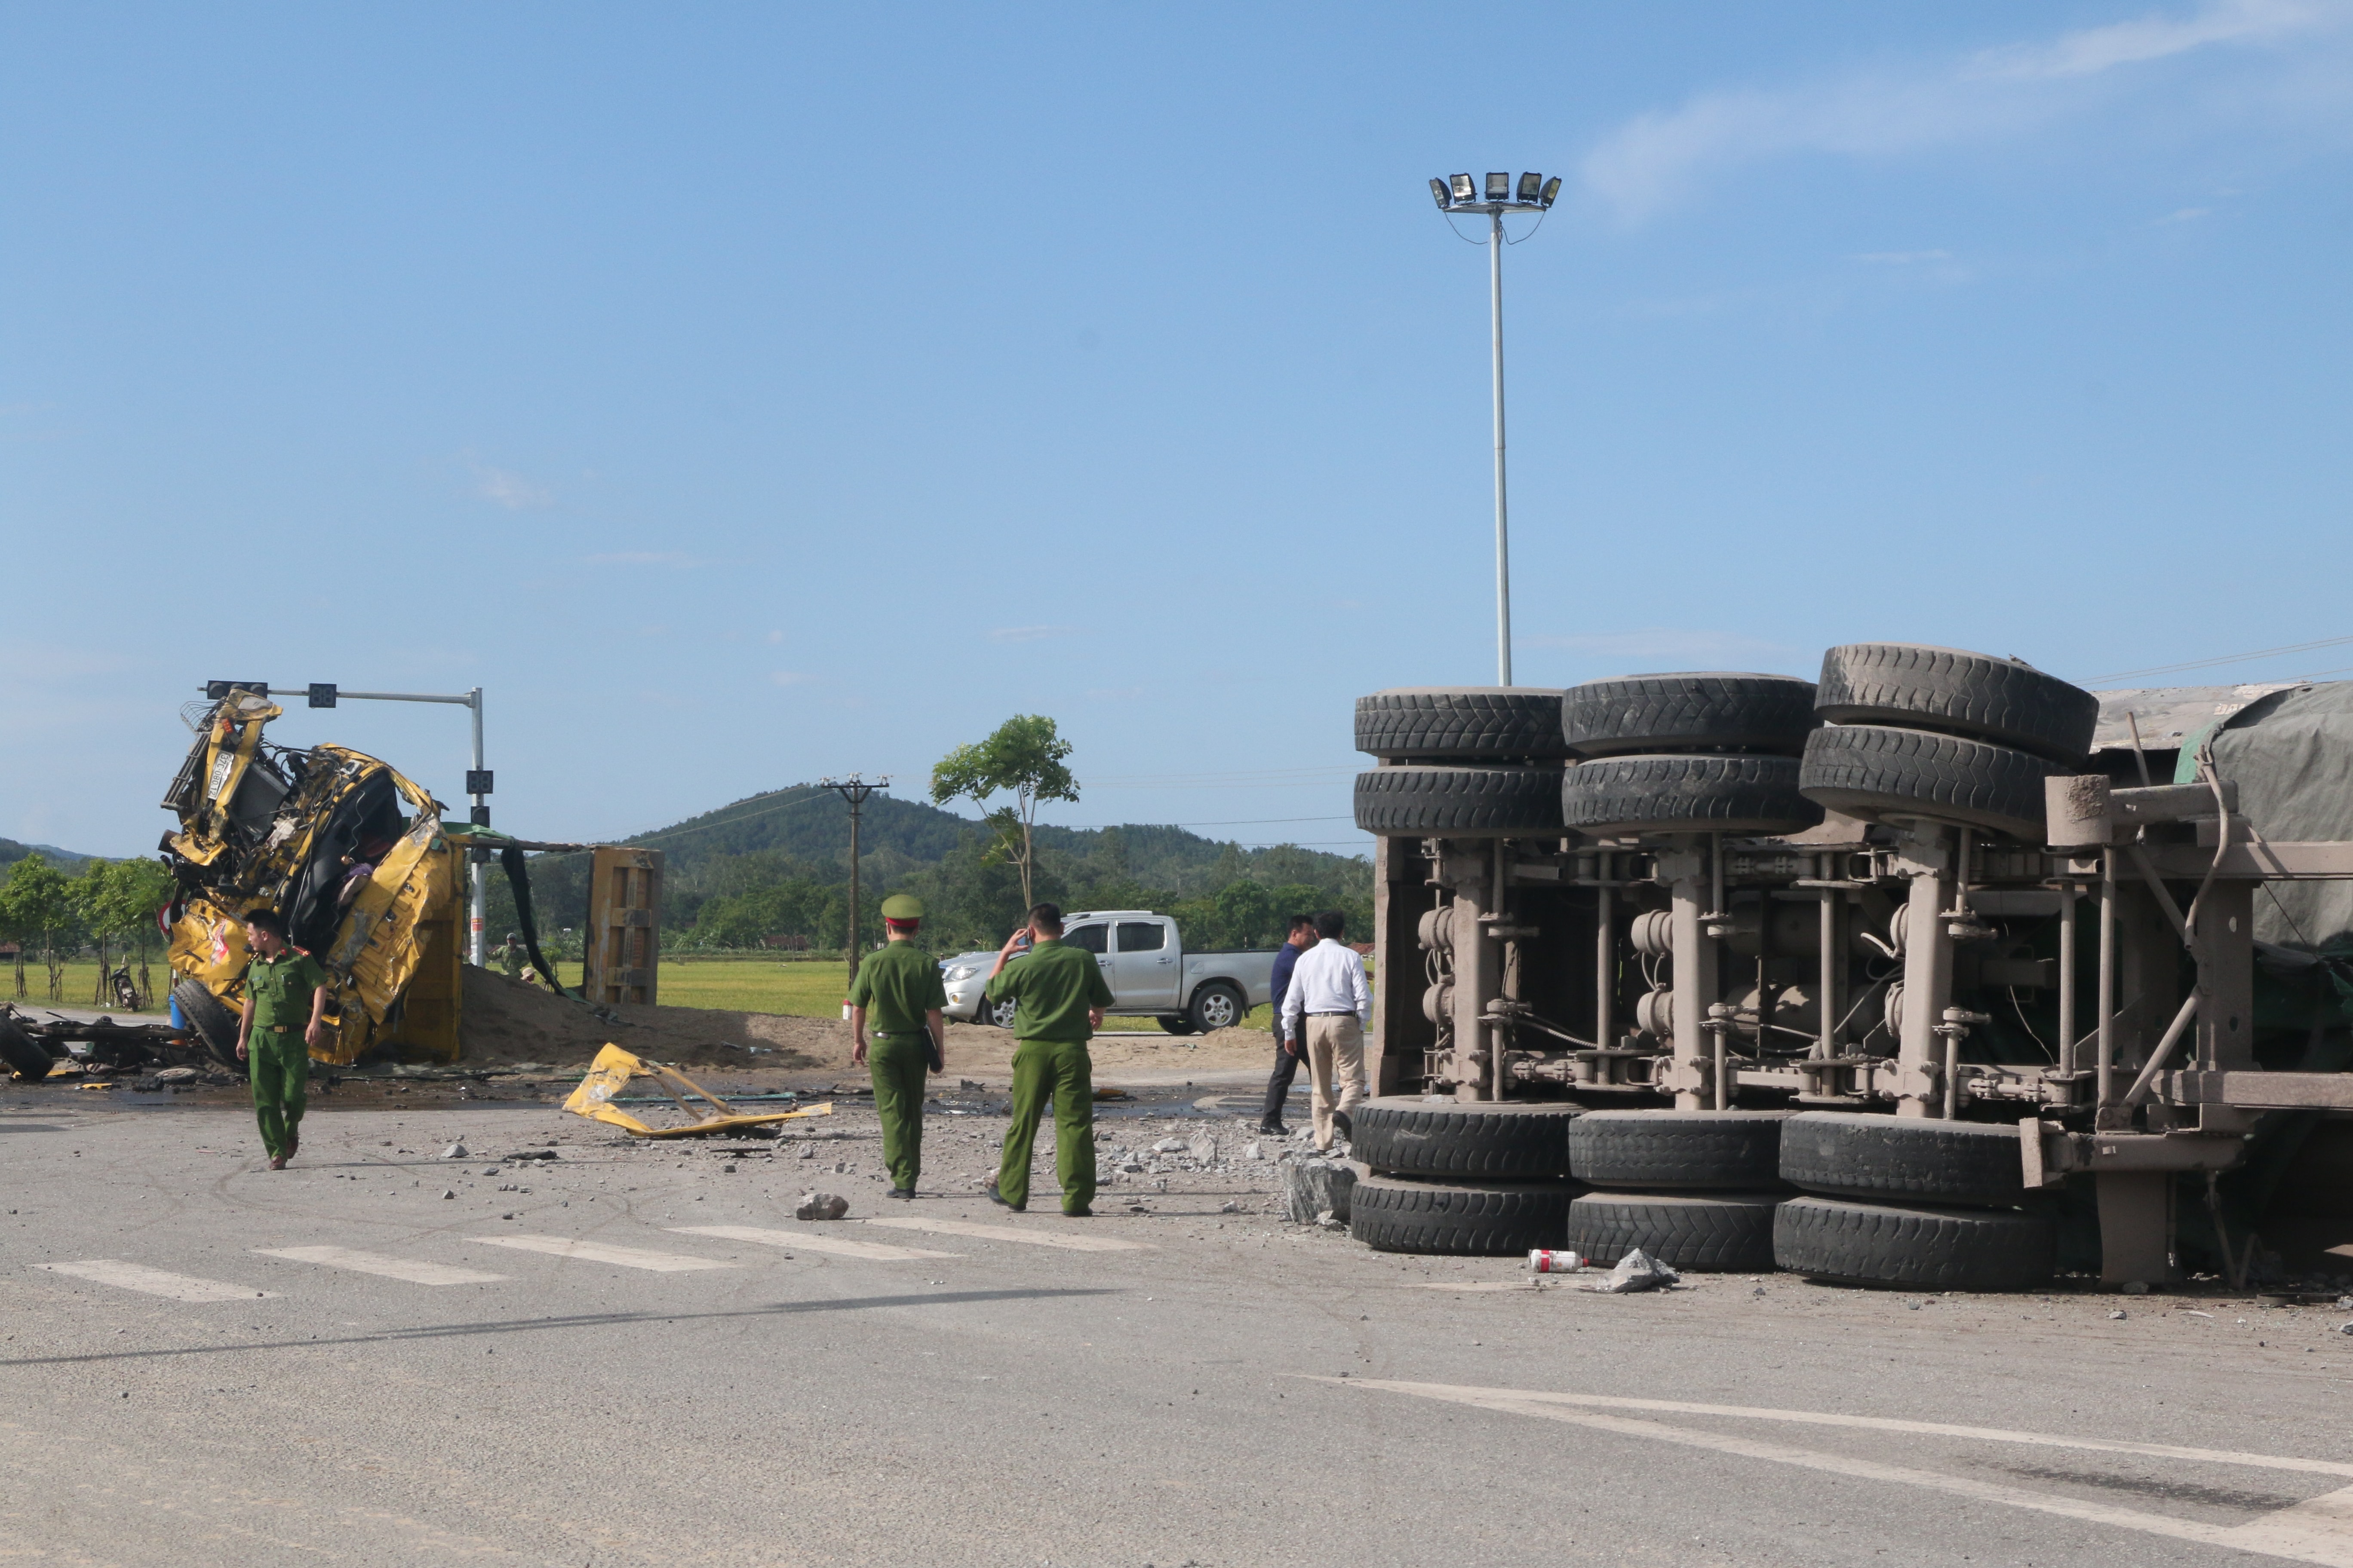
M 864 1112 L 812 1159 L 322 1112 L 273 1175 L 235 1112 L 5 1093 L 0 1556 L 2353 1563 L 2353 1312 L 1529 1288 L 1289 1229 L 1247 1161 L 1007 1215 L 1000 1126 L 885 1211 Z

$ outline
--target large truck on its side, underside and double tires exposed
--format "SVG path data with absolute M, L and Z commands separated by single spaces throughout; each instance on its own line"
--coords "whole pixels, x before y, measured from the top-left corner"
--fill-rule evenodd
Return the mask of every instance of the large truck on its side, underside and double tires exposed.
M 1852 644 L 1355 736 L 1369 1246 L 2353 1276 L 2353 684 Z

